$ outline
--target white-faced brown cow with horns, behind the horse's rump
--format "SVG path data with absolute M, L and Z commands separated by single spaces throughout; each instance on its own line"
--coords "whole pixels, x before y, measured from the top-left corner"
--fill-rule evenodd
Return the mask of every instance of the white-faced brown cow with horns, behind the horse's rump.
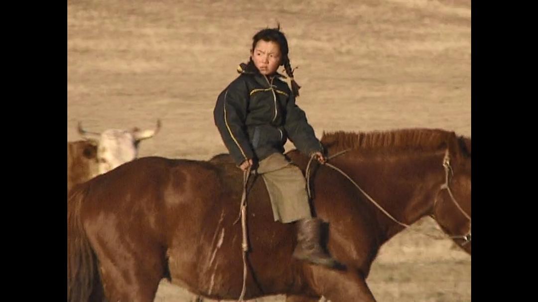
M 153 130 L 109 129 L 101 133 L 86 131 L 78 124 L 79 134 L 84 140 L 67 142 L 67 191 L 75 184 L 104 174 L 138 156 L 140 141 L 157 134 L 161 121 Z

